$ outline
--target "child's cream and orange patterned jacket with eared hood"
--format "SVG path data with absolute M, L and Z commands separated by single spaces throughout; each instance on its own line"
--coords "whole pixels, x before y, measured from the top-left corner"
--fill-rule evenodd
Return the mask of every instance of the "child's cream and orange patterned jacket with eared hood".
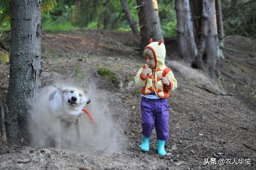
M 143 77 L 142 71 L 146 68 L 147 64 L 143 65 L 135 77 L 135 82 L 139 87 L 142 87 L 141 94 L 149 95 L 155 92 L 158 97 L 165 99 L 169 97 L 170 91 L 174 91 L 177 88 L 177 80 L 174 78 L 171 69 L 164 64 L 166 55 L 164 43 L 161 40 L 159 42 L 151 41 L 146 48 L 150 48 L 153 51 L 156 67 L 152 73 Z M 166 77 L 170 81 L 170 87 L 166 87 L 162 83 L 161 77 Z

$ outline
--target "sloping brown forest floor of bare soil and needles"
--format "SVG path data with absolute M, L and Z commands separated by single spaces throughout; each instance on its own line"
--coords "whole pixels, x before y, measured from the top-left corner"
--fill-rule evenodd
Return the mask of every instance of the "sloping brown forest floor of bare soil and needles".
M 226 37 L 225 47 L 235 51 L 224 49 L 225 59 L 217 60 L 217 75 L 210 78 L 187 67 L 177 55 L 176 40 L 165 38 L 166 64 L 178 88 L 168 98 L 168 156 L 158 156 L 155 130 L 150 151 L 139 149 L 141 97 L 134 77 L 144 59 L 138 36 L 107 30 L 42 36 L 42 86 L 49 85 L 46 80 L 93 84 L 94 100 L 89 105 L 107 107 L 107 114 L 96 111 L 97 106 L 89 108 L 92 115 L 98 114 L 97 130 L 104 128 L 99 124 L 111 126 L 107 135 L 97 137 L 98 147 L 85 135 L 83 149 L 11 145 L 1 139 L 1 169 L 256 169 L 255 41 Z M 109 81 L 111 75 L 99 75 L 99 67 L 115 73 L 114 81 Z M 0 65 L 0 70 L 0 95 L 6 104 L 9 64 Z M 82 133 L 91 130 L 82 129 Z M 204 164 L 207 159 L 211 164 Z M 223 165 L 218 160 L 224 160 Z

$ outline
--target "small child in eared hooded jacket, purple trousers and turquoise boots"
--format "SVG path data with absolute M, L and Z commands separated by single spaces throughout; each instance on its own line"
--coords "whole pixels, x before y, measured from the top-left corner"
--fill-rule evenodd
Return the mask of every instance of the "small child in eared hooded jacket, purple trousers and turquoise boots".
M 164 43 L 152 42 L 143 52 L 146 64 L 143 65 L 135 78 L 135 82 L 142 87 L 140 103 L 142 115 L 142 144 L 140 149 L 149 150 L 152 129 L 156 127 L 157 152 L 165 156 L 165 140 L 169 139 L 169 105 L 167 98 L 170 91 L 177 87 L 177 81 L 170 68 L 164 64 L 166 54 Z

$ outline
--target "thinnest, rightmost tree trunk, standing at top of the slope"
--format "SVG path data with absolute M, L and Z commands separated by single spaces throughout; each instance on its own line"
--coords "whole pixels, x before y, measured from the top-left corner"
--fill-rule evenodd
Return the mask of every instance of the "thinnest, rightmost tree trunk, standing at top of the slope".
M 222 52 L 222 47 L 224 47 L 224 28 L 223 28 L 223 20 L 222 20 L 222 10 L 221 10 L 221 2 L 220 0 L 215 0 L 216 6 L 216 18 L 217 18 L 217 28 L 218 28 L 218 38 L 219 38 L 219 45 L 218 45 L 218 58 L 224 59 L 224 55 Z

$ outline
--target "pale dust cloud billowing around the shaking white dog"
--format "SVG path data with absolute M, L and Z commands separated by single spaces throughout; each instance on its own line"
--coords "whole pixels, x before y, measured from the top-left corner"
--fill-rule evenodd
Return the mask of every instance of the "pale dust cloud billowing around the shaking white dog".
M 78 87 L 74 85 L 67 85 L 65 83 L 54 83 L 56 87 Z M 79 118 L 80 134 L 83 147 L 78 147 L 76 142 L 76 130 L 74 124 L 71 126 L 70 135 L 61 138 L 62 149 L 79 150 L 82 152 L 100 152 L 102 154 L 111 154 L 118 152 L 120 146 L 118 139 L 122 138 L 120 129 L 116 129 L 111 119 L 112 113 L 108 112 L 108 96 L 103 90 L 96 90 L 96 86 L 91 83 L 91 103 L 85 109 L 88 110 L 95 123 L 91 124 L 88 115 L 84 112 Z M 49 85 L 40 91 L 38 100 L 34 103 L 31 109 L 30 133 L 32 136 L 31 146 L 39 147 L 54 147 L 54 139 L 57 133 L 61 130 L 64 132 L 63 127 L 53 123 L 52 115 L 47 107 L 47 100 L 49 95 L 56 91 L 56 87 Z

